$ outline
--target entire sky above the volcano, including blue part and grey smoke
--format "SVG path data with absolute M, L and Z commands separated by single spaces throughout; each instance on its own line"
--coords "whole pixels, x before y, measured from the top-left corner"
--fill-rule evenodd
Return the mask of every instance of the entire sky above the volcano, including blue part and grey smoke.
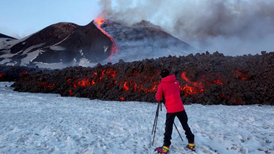
M 200 49 L 225 55 L 274 51 L 273 0 L 0 0 L 0 33 L 20 39 L 58 22 L 87 25 L 101 13 L 141 20 Z

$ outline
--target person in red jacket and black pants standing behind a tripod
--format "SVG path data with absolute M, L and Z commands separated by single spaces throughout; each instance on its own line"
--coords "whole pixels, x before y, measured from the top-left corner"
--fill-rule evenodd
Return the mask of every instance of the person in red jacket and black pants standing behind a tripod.
M 155 151 L 158 151 L 159 153 L 168 153 L 169 146 L 171 144 L 170 140 L 173 123 L 176 116 L 182 124 L 188 139 L 188 145 L 186 147 L 191 151 L 195 151 L 194 134 L 191 132 L 187 124 L 188 118 L 180 97 L 179 82 L 176 80 L 175 75 L 169 75 L 169 71 L 167 69 L 163 69 L 160 76 L 162 77 L 162 80 L 157 89 L 156 100 L 161 101 L 164 96 L 167 114 L 164 143 L 162 147 L 157 147 Z

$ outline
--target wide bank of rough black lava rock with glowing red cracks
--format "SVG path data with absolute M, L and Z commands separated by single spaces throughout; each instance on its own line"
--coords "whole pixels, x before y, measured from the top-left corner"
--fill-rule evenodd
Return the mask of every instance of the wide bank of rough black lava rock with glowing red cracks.
M 15 91 L 59 93 L 100 100 L 156 102 L 163 68 L 180 82 L 184 104 L 274 105 L 274 52 L 237 57 L 214 54 L 70 67 L 25 75 Z

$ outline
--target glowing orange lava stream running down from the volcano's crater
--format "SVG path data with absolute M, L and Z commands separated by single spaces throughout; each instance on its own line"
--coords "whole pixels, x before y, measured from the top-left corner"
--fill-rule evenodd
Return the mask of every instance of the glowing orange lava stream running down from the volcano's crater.
M 109 56 L 109 60 L 113 61 L 112 59 L 112 55 L 114 54 L 117 54 L 118 53 L 118 47 L 117 47 L 117 44 L 116 44 L 116 41 L 110 36 L 108 35 L 101 27 L 102 23 L 104 23 L 106 20 L 104 20 L 102 18 L 102 16 L 98 16 L 96 19 L 94 19 L 94 22 L 95 22 L 95 25 L 97 26 L 97 28 L 99 30 L 102 31 L 102 33 L 104 33 L 108 38 L 110 38 L 112 44 L 111 44 L 111 55 Z

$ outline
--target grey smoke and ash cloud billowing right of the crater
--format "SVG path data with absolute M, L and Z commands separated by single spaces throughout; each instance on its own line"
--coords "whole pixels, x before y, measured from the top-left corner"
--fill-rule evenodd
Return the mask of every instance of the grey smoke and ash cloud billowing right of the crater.
M 202 51 L 218 50 L 226 55 L 274 51 L 274 1 L 101 0 L 99 3 L 105 19 L 127 25 L 143 19 L 151 21 Z

